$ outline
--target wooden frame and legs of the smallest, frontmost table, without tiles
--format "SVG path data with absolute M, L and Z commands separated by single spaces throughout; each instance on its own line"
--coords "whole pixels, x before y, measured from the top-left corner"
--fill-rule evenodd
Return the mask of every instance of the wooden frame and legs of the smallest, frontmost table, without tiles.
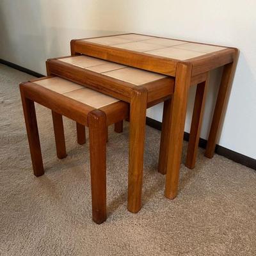
M 45 77 L 47 79 L 49 77 Z M 99 109 L 88 106 L 82 102 L 65 97 L 36 84 L 26 82 L 20 84 L 20 95 L 24 110 L 24 118 L 29 140 L 29 149 L 36 177 L 44 175 L 42 152 L 36 122 L 35 104 L 41 104 L 52 110 L 54 135 L 58 158 L 67 156 L 62 115 L 77 122 L 77 129 L 89 127 L 90 136 L 90 166 L 92 183 L 92 218 L 95 223 L 106 220 L 106 140 L 107 127 L 111 124 L 122 124 L 122 120 L 129 115 L 127 103 L 118 101 Z M 119 127 L 120 131 L 120 127 Z M 85 138 L 79 138 L 85 142 Z

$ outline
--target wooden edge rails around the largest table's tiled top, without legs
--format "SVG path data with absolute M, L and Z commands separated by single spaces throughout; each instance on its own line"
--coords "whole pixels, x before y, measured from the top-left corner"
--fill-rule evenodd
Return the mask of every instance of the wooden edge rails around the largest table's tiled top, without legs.
M 135 35 L 141 35 L 136 34 Z M 150 35 L 148 35 L 150 36 Z M 156 38 L 163 38 L 159 36 L 155 36 Z M 166 39 L 172 39 L 172 40 L 178 40 L 173 38 L 166 38 Z M 190 41 L 184 41 L 179 40 L 183 42 L 190 42 Z M 202 44 L 198 42 L 192 42 L 195 44 Z M 220 67 L 222 65 L 225 65 L 229 62 L 232 62 L 232 52 L 234 51 L 234 47 L 226 47 L 221 45 L 213 45 L 213 44 L 204 44 L 204 45 L 212 45 L 212 46 L 220 46 L 225 47 L 226 49 L 211 52 L 209 54 L 205 54 L 204 56 L 198 56 L 195 58 L 191 58 L 188 60 L 175 60 L 171 58 L 164 58 L 159 56 L 154 56 L 151 54 L 147 54 L 145 52 L 136 52 L 136 51 L 130 51 L 127 49 L 118 49 L 115 48 L 115 46 L 109 46 L 109 45 L 100 45 L 95 44 L 92 42 L 85 42 L 76 40 L 74 42 L 74 52 L 86 54 L 89 56 L 94 56 L 96 58 L 101 58 L 104 60 L 114 61 L 117 63 L 121 63 L 124 65 L 129 65 L 131 67 L 137 67 L 142 68 L 144 70 L 157 72 L 160 74 L 166 74 L 168 76 L 175 76 L 175 66 L 177 65 L 177 62 L 192 62 L 193 63 L 193 71 L 192 75 L 195 76 L 196 74 L 200 74 L 202 72 L 207 72 L 211 69 Z M 123 55 L 123 56 L 122 56 Z M 136 60 L 137 59 L 137 60 Z M 140 61 L 138 61 L 140 60 Z M 155 61 L 158 62 L 158 66 Z M 163 67 L 161 67 L 161 64 L 165 63 Z M 150 63 L 150 65 L 145 65 L 145 63 Z M 203 64 L 205 63 L 205 67 Z M 156 65 L 156 67 L 155 67 Z

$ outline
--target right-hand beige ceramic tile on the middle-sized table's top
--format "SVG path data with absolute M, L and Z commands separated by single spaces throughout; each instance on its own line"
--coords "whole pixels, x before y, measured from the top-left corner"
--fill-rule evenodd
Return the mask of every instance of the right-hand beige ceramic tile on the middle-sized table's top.
M 132 83 L 135 85 L 149 83 L 165 77 L 163 75 L 156 74 L 154 72 L 148 72 L 145 70 L 140 70 L 138 68 L 122 68 L 106 72 L 104 73 L 104 75 L 111 76 L 118 80 Z

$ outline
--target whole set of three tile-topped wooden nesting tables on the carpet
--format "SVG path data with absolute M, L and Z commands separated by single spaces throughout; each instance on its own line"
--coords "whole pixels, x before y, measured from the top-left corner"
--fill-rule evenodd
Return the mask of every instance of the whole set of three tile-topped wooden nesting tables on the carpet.
M 52 109 L 57 156 L 67 156 L 62 115 L 77 122 L 77 141 L 89 127 L 93 220 L 106 220 L 107 127 L 129 118 L 128 204 L 141 209 L 146 110 L 164 102 L 159 172 L 165 196 L 177 196 L 189 87 L 196 86 L 186 166 L 195 167 L 209 71 L 223 67 L 205 156 L 214 154 L 221 116 L 236 68 L 237 49 L 157 36 L 125 34 L 72 40 L 71 56 L 46 61 L 47 77 L 20 84 L 36 176 L 44 174 L 35 107 Z

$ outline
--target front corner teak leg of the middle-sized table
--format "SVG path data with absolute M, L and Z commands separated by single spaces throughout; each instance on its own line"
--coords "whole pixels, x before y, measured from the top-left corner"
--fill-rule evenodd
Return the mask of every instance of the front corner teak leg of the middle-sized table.
M 137 86 L 132 89 L 130 104 L 130 144 L 128 205 L 131 212 L 141 209 L 141 190 L 143 179 L 143 153 L 145 142 L 145 123 L 147 110 L 147 89 Z

